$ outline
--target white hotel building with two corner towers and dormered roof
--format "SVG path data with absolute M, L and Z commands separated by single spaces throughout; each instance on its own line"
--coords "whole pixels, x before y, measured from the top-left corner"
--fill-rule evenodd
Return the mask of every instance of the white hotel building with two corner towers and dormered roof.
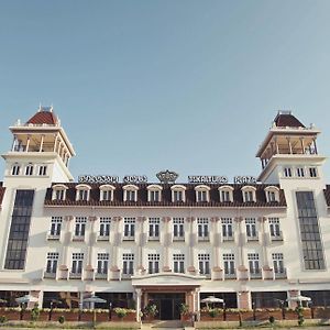
M 315 127 L 279 112 L 256 156 L 257 183 L 75 183 L 75 151 L 52 109 L 10 127 L 0 187 L 0 298 L 78 307 L 330 305 L 330 187 Z M 163 173 L 164 175 L 164 173 Z M 198 179 L 198 178 L 196 178 Z M 99 307 L 108 308 L 109 305 Z M 139 312 L 136 314 L 139 319 Z

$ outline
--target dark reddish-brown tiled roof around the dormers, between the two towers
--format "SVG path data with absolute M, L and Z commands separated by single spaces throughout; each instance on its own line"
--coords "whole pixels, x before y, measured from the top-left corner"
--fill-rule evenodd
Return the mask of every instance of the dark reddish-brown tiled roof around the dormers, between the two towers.
M 56 185 L 55 183 L 53 185 Z M 109 206 L 109 207 L 134 207 L 134 206 L 148 206 L 148 207 L 286 207 L 286 200 L 284 191 L 279 190 L 279 201 L 266 201 L 265 187 L 267 185 L 253 185 L 256 188 L 256 202 L 243 202 L 242 185 L 230 185 L 234 188 L 233 190 L 233 202 L 227 201 L 221 202 L 219 197 L 218 188 L 221 185 L 208 185 L 210 187 L 210 201 L 196 201 L 196 185 L 183 184 L 186 189 L 186 201 L 185 202 L 173 202 L 170 185 L 162 185 L 162 200 L 158 202 L 147 201 L 147 189 L 146 187 L 152 184 L 140 184 L 138 190 L 138 201 L 123 201 L 123 189 L 125 184 L 114 185 L 116 190 L 113 191 L 113 200 L 100 201 L 99 184 L 89 184 L 91 187 L 90 199 L 88 201 L 78 200 L 76 201 L 76 186 L 77 183 L 65 184 L 68 189 L 66 190 L 65 200 L 52 200 L 52 188 L 47 189 L 45 197 L 46 206 Z M 277 186 L 278 187 L 278 186 Z

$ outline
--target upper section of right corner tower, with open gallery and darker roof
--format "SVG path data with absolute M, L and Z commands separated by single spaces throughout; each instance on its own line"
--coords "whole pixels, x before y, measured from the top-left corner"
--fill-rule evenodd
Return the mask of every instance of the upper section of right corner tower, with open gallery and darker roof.
M 319 133 L 312 124 L 305 127 L 290 111 L 278 111 L 256 153 L 262 163 L 258 180 L 265 184 L 278 184 L 286 178 L 322 180 L 321 165 L 326 157 L 317 147 Z

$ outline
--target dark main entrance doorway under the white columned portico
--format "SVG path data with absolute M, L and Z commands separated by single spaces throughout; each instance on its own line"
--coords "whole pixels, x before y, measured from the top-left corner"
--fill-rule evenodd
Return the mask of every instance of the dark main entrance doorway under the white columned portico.
M 148 299 L 157 306 L 161 320 L 179 320 L 180 305 L 185 304 L 185 293 L 150 293 Z

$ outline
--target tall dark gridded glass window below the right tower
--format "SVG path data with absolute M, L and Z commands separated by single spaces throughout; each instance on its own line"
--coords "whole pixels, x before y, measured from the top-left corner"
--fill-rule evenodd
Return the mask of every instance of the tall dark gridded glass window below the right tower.
M 312 191 L 296 191 L 305 270 L 324 270 L 323 248 Z

